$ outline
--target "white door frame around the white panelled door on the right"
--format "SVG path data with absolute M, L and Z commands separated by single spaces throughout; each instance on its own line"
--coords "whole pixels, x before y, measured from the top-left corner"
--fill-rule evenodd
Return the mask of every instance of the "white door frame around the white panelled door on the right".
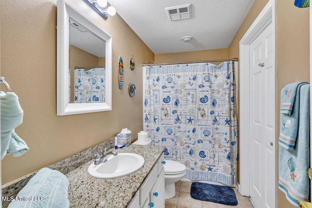
M 269 0 L 267 5 L 263 8 L 258 17 L 254 20 L 254 23 L 247 30 L 246 34 L 239 41 L 239 184 L 237 183 L 238 191 L 244 196 L 250 196 L 249 193 L 249 138 L 250 138 L 250 44 L 254 39 L 272 22 L 274 25 L 274 60 L 275 66 L 275 103 L 276 103 L 276 12 L 275 12 L 276 0 Z M 276 112 L 276 106 L 275 106 Z M 275 121 L 276 127 L 276 121 Z M 276 128 L 275 128 L 276 129 Z M 276 133 L 276 132 L 275 132 Z M 273 151 L 277 152 L 276 139 L 273 142 Z M 277 179 L 276 172 L 277 162 L 275 155 L 275 175 L 274 181 Z M 275 189 L 275 195 L 277 193 Z M 275 202 L 276 205 L 276 202 Z

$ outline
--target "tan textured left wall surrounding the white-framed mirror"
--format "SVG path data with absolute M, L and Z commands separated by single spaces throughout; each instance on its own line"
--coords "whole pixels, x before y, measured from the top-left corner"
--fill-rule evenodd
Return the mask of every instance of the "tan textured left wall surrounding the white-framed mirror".
M 82 0 L 67 0 L 113 37 L 113 110 L 56 116 L 56 0 L 1 0 L 1 76 L 20 98 L 23 123 L 15 130 L 29 151 L 1 161 L 2 184 L 107 140 L 122 128 L 142 130 L 142 63 L 154 54 L 118 16 L 104 21 Z M 130 70 L 131 53 L 136 62 Z M 117 84 L 124 60 L 124 89 Z M 128 92 L 131 82 L 137 95 Z M 1 87 L 3 87 L 1 85 Z M 3 88 L 2 88 L 3 89 Z M 126 103 L 126 105 L 125 105 Z

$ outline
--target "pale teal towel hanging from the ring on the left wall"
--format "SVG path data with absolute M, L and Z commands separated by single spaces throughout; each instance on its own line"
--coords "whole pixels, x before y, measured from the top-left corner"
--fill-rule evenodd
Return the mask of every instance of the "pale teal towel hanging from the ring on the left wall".
M 17 157 L 28 151 L 26 143 L 15 133 L 14 129 L 22 123 L 23 110 L 19 98 L 12 92 L 0 92 L 1 101 L 1 160 L 13 152 Z

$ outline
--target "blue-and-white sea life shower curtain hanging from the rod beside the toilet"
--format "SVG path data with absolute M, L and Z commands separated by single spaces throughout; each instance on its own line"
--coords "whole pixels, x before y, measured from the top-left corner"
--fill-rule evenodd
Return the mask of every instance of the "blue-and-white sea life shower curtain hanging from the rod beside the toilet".
M 144 131 L 186 178 L 235 184 L 233 72 L 233 61 L 146 67 Z

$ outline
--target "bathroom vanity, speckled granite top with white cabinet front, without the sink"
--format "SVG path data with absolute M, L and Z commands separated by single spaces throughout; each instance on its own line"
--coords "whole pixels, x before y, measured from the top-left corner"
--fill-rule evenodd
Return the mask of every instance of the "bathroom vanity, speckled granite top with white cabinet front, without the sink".
M 164 208 L 164 149 L 161 146 L 142 145 L 114 149 L 118 153 L 131 152 L 144 158 L 144 165 L 140 170 L 119 178 L 98 179 L 89 175 L 88 167 L 94 160 L 67 173 L 70 206 Z

